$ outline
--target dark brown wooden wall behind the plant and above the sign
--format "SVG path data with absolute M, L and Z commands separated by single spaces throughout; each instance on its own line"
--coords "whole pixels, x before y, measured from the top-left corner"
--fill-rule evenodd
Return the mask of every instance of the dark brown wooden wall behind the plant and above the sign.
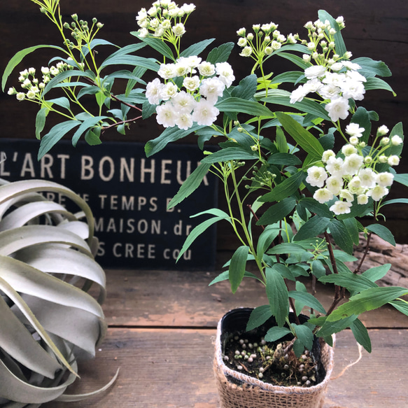
M 189 3 L 190 1 L 188 1 Z M 214 45 L 227 41 L 237 41 L 236 31 L 252 24 L 273 21 L 279 24 L 283 34 L 302 31 L 309 20 L 316 20 L 319 8 L 328 10 L 334 17 L 343 15 L 346 29 L 342 31 L 346 47 L 354 57 L 372 57 L 388 64 L 393 76 L 388 82 L 397 92 L 370 91 L 365 97 L 365 107 L 377 111 L 379 125 L 390 129 L 402 121 L 408 129 L 408 2 L 407 0 L 196 0 L 197 10 L 188 20 L 188 33 L 183 37 L 185 45 L 205 38 L 216 38 Z M 134 40 L 129 31 L 137 29 L 135 16 L 140 8 L 148 8 L 149 1 L 141 0 L 60 0 L 66 21 L 70 15 L 78 13 L 83 20 L 97 17 L 104 28 L 100 36 L 118 45 L 127 45 Z M 52 23 L 42 15 L 36 4 L 29 0 L 1 1 L 0 6 L 0 71 L 6 67 L 8 59 L 22 48 L 41 43 L 60 45 L 60 38 Z M 237 47 L 233 51 L 232 62 L 237 79 L 246 76 L 248 64 L 238 56 Z M 38 69 L 48 62 L 50 54 L 37 51 L 33 57 L 24 59 L 19 68 L 36 66 Z M 282 59 L 272 60 L 271 70 L 280 73 L 288 66 Z M 17 85 L 18 71 L 10 78 L 10 85 Z M 34 104 L 32 104 L 34 105 Z M 15 97 L 0 94 L 0 137 L 34 137 L 36 107 L 28 102 L 17 102 Z M 147 141 L 160 129 L 155 120 L 139 122 L 127 136 L 117 132 L 104 135 L 106 140 Z M 406 131 L 407 132 L 407 131 Z M 1 143 L 1 139 L 0 139 Z M 405 149 L 407 156 L 408 149 Z M 408 160 L 403 157 L 399 172 L 408 173 Z M 398 187 L 393 197 L 407 197 L 407 188 Z M 407 207 L 393 206 L 386 213 L 388 227 L 393 230 L 398 242 L 408 242 Z M 230 232 L 218 232 L 218 247 L 230 248 Z

